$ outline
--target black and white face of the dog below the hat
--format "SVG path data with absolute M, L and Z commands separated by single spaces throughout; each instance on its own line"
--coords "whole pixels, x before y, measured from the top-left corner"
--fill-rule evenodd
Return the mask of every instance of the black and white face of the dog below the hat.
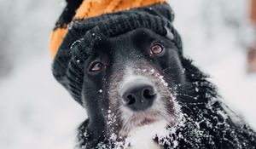
M 83 100 L 95 137 L 124 138 L 145 124 L 177 123 L 173 93 L 185 77 L 172 36 L 137 29 L 101 40 L 84 66 Z

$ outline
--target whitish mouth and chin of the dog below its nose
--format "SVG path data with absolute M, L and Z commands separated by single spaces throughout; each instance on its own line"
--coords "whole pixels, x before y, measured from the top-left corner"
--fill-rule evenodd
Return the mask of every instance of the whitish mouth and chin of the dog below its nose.
M 167 128 L 171 128 L 177 123 L 176 107 L 172 106 L 173 110 L 167 111 L 165 106 L 155 105 L 141 112 L 132 112 L 127 108 L 122 108 L 124 117 L 122 117 L 119 137 L 126 138 L 132 134 L 132 131 L 142 128 L 148 128 L 148 131 L 154 133 L 153 135 L 158 135 L 162 133 L 162 130 L 166 131 Z M 157 132 L 157 130 L 161 130 L 161 132 Z

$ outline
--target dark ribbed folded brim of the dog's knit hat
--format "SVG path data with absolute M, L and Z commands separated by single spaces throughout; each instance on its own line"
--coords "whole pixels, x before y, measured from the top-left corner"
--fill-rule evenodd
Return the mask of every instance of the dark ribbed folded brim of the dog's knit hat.
M 69 27 L 66 37 L 55 55 L 52 71 L 79 104 L 84 81 L 84 61 L 98 40 L 116 37 L 138 28 L 147 28 L 166 36 L 166 27 L 174 34 L 173 42 L 182 54 L 181 38 L 172 27 L 174 14 L 167 3 L 102 14 L 79 20 Z

